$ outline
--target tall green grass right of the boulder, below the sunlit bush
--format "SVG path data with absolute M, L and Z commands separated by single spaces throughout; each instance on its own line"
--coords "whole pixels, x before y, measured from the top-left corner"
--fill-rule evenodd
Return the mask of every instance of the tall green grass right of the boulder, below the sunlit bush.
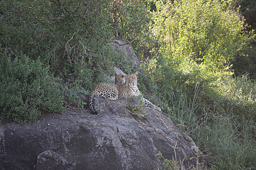
M 208 102 L 201 99 L 204 90 L 198 83 L 192 90 L 181 85 L 179 93 L 171 91 L 168 114 L 208 154 L 210 169 L 256 169 L 256 83 L 247 76 L 223 78 Z

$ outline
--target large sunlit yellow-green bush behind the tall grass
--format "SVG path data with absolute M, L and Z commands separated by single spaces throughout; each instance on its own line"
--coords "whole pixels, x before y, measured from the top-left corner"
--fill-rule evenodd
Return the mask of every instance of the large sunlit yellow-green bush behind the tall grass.
M 244 20 L 218 0 L 157 1 L 156 6 L 151 29 L 160 47 L 145 67 L 150 80 L 163 98 L 172 97 L 171 91 L 177 95 L 180 86 L 192 96 L 199 85 L 200 100 L 215 101 L 221 96 L 221 79 L 233 74 L 228 62 L 255 35 L 247 34 Z M 171 102 L 164 105 L 167 108 Z

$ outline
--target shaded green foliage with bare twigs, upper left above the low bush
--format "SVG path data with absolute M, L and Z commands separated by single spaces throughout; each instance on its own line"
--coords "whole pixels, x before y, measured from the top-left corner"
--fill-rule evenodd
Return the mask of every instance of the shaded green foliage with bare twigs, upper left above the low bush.
M 12 55 L 40 58 L 68 85 L 91 89 L 122 57 L 105 42 L 112 37 L 110 2 L 23 0 L 0 2 L 0 46 Z

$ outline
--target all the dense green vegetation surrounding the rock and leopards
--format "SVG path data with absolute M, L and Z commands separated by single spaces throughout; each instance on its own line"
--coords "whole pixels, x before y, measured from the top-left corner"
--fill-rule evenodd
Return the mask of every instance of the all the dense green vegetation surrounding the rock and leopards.
M 134 71 L 108 46 L 117 37 L 133 45 L 155 103 L 208 155 L 210 169 L 254 169 L 254 4 L 0 0 L 0 122 L 83 107 L 76 93 L 88 94 L 113 63 Z

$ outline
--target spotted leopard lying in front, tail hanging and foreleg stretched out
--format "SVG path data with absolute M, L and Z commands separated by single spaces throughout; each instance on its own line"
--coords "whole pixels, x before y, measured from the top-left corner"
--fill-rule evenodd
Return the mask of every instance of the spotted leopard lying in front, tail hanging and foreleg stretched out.
M 98 114 L 93 107 L 93 97 L 95 95 L 109 100 L 117 100 L 119 98 L 138 98 L 138 96 L 141 95 L 137 86 L 138 71 L 127 75 L 125 74 L 124 79 L 125 81 L 122 85 L 112 83 L 99 83 L 95 85 L 89 96 L 89 108 L 92 111 L 92 114 Z M 152 102 L 148 101 L 144 97 L 142 97 L 142 99 L 146 106 L 161 111 L 161 109 L 155 106 Z

